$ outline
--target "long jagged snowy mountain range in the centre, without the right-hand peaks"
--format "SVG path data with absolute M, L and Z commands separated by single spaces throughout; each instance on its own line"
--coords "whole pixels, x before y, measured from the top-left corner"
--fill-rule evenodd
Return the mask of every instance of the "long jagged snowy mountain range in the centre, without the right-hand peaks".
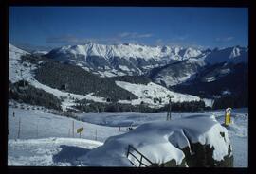
M 141 75 L 154 67 L 196 58 L 202 54 L 194 48 L 85 43 L 53 49 L 46 56 L 57 61 L 74 63 L 103 77 L 112 77 Z

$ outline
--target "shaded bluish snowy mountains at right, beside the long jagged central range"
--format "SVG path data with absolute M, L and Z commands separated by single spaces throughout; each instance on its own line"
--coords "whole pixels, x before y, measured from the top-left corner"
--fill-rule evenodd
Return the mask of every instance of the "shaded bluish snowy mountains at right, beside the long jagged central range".
M 210 82 L 219 77 L 229 75 L 231 73 L 229 66 L 232 66 L 232 64 L 247 63 L 247 61 L 247 48 L 235 46 L 224 49 L 208 49 L 202 51 L 202 54 L 197 59 L 190 58 L 186 61 L 155 67 L 150 71 L 149 77 L 158 84 L 170 87 L 189 82 L 196 76 L 203 77 L 200 74 L 202 72 L 205 74 L 207 71 L 208 76 L 204 75 L 205 77 L 202 80 Z M 216 68 L 216 65 L 221 67 Z

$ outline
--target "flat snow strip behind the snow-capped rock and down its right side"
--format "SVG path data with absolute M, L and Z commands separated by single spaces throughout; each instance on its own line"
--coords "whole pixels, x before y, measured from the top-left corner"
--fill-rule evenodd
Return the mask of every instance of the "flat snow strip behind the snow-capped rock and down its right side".
M 214 115 L 219 123 L 224 123 L 225 110 L 203 112 Z M 167 113 L 86 113 L 79 114 L 79 117 L 93 124 L 117 126 L 138 125 L 148 122 L 164 121 Z M 202 113 L 179 113 L 172 112 L 172 119 L 183 118 L 188 115 Z M 98 115 L 98 116 L 97 116 Z M 233 109 L 231 112 L 232 124 L 229 126 L 229 137 L 233 147 L 234 166 L 247 167 L 247 109 Z

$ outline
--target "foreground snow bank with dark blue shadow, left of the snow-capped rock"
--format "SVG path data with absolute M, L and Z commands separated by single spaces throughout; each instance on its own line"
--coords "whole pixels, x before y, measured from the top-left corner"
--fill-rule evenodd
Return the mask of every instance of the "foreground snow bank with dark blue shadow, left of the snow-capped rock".
M 10 139 L 8 165 L 71 166 L 102 143 L 77 138 Z

